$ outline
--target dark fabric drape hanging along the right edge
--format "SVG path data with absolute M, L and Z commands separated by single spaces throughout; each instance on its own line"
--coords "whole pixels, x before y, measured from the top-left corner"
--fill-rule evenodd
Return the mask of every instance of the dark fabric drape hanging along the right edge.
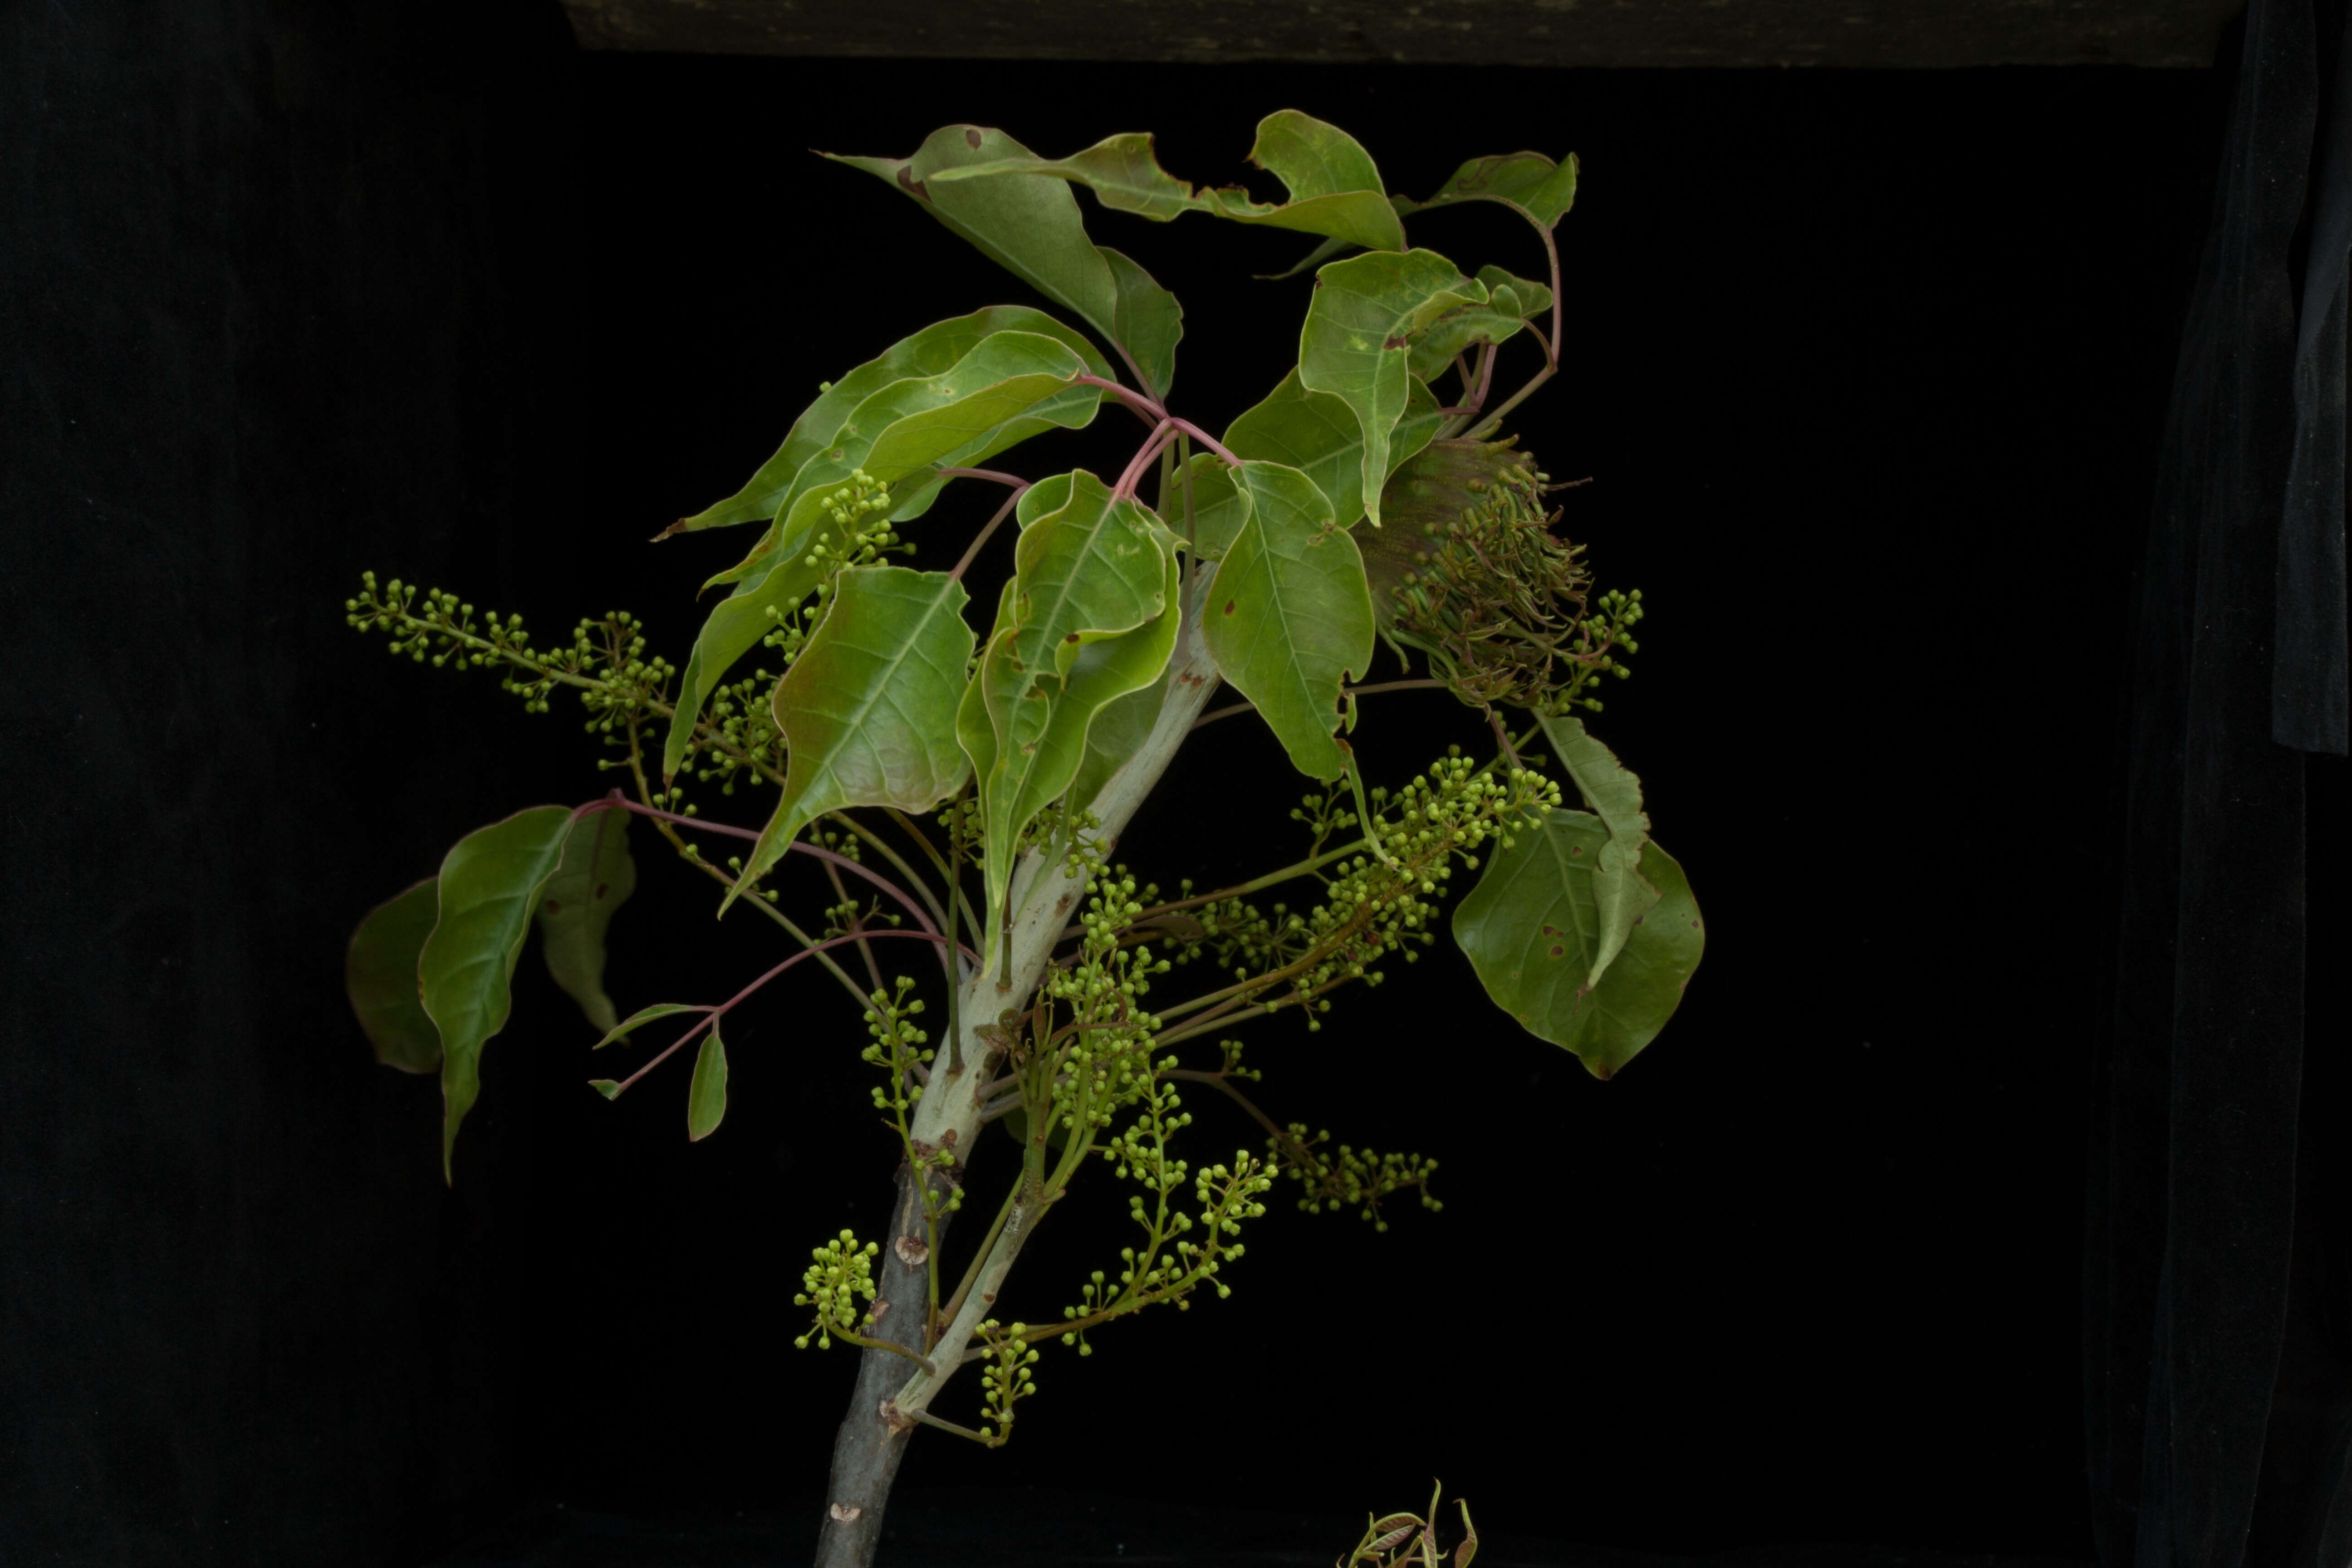
M 2340 28 L 2246 14 L 2140 571 L 2084 1298 L 2117 1566 L 2352 1559 Z

